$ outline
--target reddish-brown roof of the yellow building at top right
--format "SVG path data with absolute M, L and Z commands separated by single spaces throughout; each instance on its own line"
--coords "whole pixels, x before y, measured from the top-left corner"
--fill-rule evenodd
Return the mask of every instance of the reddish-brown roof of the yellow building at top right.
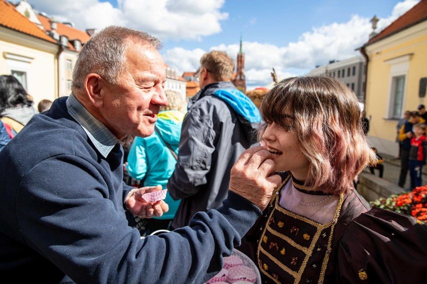
M 419 1 L 406 13 L 398 17 L 395 21 L 381 30 L 376 36 L 372 37 L 368 42 L 365 43 L 364 46 L 388 37 L 424 20 L 427 20 L 427 0 Z

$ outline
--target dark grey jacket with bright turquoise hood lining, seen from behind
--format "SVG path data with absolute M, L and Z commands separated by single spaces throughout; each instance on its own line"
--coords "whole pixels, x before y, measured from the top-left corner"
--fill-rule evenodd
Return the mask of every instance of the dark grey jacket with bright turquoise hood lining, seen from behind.
M 227 198 L 230 170 L 257 142 L 261 115 L 232 82 L 205 85 L 188 102 L 182 122 L 178 162 L 167 183 L 182 198 L 172 227 L 185 226 L 198 211 L 219 208 Z

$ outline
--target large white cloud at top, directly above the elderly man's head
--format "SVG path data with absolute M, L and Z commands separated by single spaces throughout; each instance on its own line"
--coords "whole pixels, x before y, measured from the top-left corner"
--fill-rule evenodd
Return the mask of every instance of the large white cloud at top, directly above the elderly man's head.
M 79 29 L 110 24 L 144 30 L 162 40 L 200 39 L 222 31 L 228 18 L 220 8 L 225 0 L 119 0 L 118 7 L 98 0 L 28 0 L 32 6 Z

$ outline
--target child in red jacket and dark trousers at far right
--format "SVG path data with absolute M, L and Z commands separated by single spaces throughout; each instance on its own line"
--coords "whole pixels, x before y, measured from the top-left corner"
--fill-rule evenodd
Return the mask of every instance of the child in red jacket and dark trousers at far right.
M 410 140 L 409 150 L 409 175 L 410 188 L 412 190 L 422 183 L 422 166 L 427 158 L 427 141 L 425 139 L 425 124 L 416 123 L 413 125 L 414 136 Z

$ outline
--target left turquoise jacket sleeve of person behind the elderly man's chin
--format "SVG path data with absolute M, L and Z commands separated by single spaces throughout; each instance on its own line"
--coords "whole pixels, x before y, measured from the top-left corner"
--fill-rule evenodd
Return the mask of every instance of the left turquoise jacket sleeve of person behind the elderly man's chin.
M 127 156 L 127 171 L 130 176 L 136 179 L 144 178 L 147 172 L 146 157 L 144 139 L 135 137 Z

